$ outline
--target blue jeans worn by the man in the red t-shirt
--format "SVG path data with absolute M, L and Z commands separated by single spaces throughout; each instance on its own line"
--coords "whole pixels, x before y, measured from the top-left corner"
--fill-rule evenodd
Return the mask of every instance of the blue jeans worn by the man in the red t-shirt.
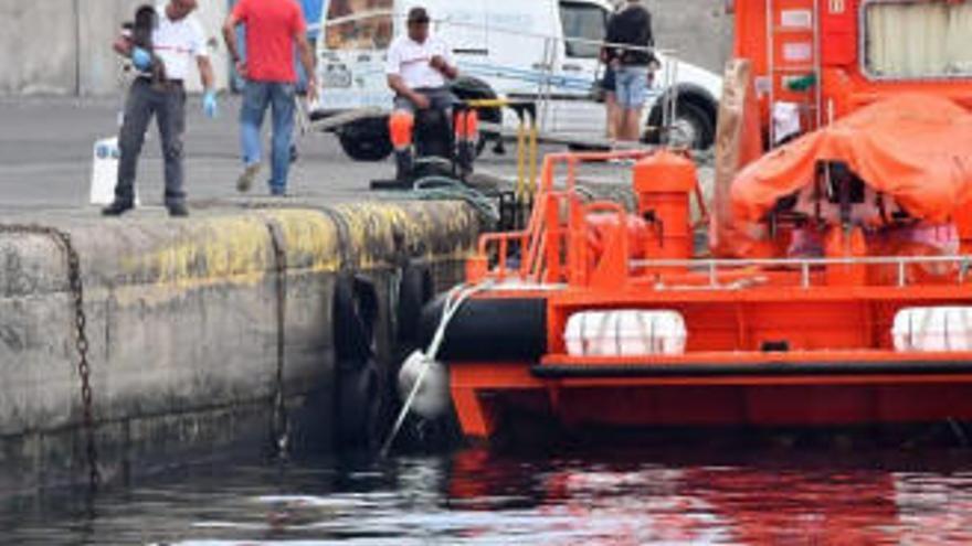
M 243 162 L 246 165 L 262 161 L 260 131 L 267 107 L 273 113 L 272 158 L 270 189 L 283 193 L 287 189 L 290 170 L 290 139 L 294 135 L 294 84 L 247 81 L 243 88 L 240 109 L 240 137 Z

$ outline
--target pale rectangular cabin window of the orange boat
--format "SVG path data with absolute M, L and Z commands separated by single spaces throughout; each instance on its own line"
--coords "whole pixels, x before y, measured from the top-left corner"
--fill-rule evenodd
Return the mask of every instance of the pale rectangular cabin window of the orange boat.
M 972 77 L 972 0 L 875 0 L 863 24 L 874 77 Z

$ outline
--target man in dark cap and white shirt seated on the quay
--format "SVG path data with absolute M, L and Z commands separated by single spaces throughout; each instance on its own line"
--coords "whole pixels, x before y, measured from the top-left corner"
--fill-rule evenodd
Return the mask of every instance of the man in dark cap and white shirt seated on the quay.
M 397 38 L 388 50 L 385 74 L 395 93 L 394 111 L 389 120 L 392 143 L 401 171 L 411 163 L 412 127 L 418 110 L 448 111 L 456 98 L 446 86 L 458 76 L 448 45 L 429 34 L 429 12 L 409 11 L 406 35 Z

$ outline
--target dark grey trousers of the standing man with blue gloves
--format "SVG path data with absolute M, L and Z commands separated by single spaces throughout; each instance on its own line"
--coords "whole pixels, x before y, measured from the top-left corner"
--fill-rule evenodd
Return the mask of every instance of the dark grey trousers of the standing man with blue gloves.
M 156 118 L 166 163 L 166 204 L 183 204 L 186 191 L 182 189 L 186 171 L 183 167 L 182 136 L 186 132 L 186 89 L 178 82 L 152 86 L 146 78 L 137 78 L 128 89 L 125 101 L 125 120 L 118 136 L 118 182 L 115 199 L 131 203 L 135 199 L 135 174 L 138 156 L 145 143 L 145 132 Z

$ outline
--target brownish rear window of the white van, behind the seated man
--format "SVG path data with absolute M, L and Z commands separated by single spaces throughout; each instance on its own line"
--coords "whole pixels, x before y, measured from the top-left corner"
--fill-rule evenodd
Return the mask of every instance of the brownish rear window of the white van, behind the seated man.
M 325 40 L 329 50 L 384 50 L 393 35 L 393 0 L 331 0 Z

